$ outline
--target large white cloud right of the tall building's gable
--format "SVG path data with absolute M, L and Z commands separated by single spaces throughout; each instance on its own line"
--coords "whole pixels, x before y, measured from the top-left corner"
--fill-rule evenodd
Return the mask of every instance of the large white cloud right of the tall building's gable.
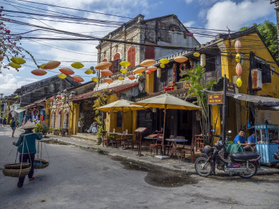
M 214 4 L 206 15 L 206 28 L 239 30 L 270 13 L 275 13 L 269 1 L 246 0 L 240 3 L 222 1 Z

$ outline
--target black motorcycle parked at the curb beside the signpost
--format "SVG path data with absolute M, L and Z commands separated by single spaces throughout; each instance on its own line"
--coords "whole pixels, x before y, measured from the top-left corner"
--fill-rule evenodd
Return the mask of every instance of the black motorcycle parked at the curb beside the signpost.
M 231 133 L 231 131 L 227 133 Z M 227 156 L 226 153 L 221 152 L 227 144 L 227 134 L 224 142 L 222 142 L 222 135 L 215 135 L 215 137 L 220 138 L 215 147 L 207 148 L 205 146 L 201 157 L 198 157 L 195 161 L 195 170 L 199 176 L 215 175 L 216 164 L 217 169 L 228 173 L 231 179 L 232 174 L 238 174 L 242 178 L 251 178 L 257 173 L 257 167 L 259 167 L 259 160 L 261 159 L 258 153 L 246 151 Z M 223 154 L 225 157 L 223 157 Z

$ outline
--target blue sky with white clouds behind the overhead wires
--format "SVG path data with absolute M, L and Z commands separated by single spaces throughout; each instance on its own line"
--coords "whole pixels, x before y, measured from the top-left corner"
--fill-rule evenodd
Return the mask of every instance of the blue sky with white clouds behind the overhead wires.
M 29 1 L 29 0 L 27 0 Z M 44 6 L 36 3 L 19 0 L 0 0 L 0 6 L 6 10 L 20 11 L 25 13 L 51 14 L 53 12 L 64 13 L 67 15 L 75 15 L 78 17 L 86 17 L 94 20 L 108 20 L 114 22 L 127 22 L 126 17 L 136 17 L 139 14 L 144 15 L 144 19 L 160 17 L 164 15 L 174 14 L 179 20 L 191 31 L 192 27 L 203 29 L 220 29 L 238 31 L 242 26 L 252 26 L 253 23 L 261 23 L 264 20 L 276 22 L 276 11 L 274 5 L 267 0 L 30 0 L 38 3 L 47 3 L 54 6 L 63 6 L 80 10 L 90 10 L 94 13 L 84 12 L 80 10 L 70 10 L 66 8 L 57 8 L 53 6 Z M 34 8 L 36 7 L 36 8 Z M 43 9 L 43 10 L 39 10 Z M 111 15 L 104 15 L 111 14 Z M 13 20 L 28 22 L 40 26 L 51 27 L 63 31 L 81 33 L 83 35 L 103 37 L 116 27 L 96 26 L 86 24 L 73 24 L 65 22 L 53 22 L 50 17 L 38 17 L 34 15 L 22 15 L 19 13 L 6 13 L 12 16 L 8 17 Z M 114 15 L 114 16 L 113 16 Z M 34 20 L 24 17 L 44 18 L 45 20 Z M 33 30 L 31 26 L 22 26 L 13 23 L 7 23 L 7 28 L 11 33 L 24 33 Z M 193 29 L 192 29 L 193 30 Z M 26 36 L 38 37 L 72 37 L 63 36 L 57 33 L 48 33 L 45 31 L 33 31 L 27 33 Z M 202 44 L 211 40 L 195 35 L 195 38 Z M 35 57 L 39 64 L 47 61 L 61 61 L 61 67 L 70 67 L 70 63 L 80 61 L 84 64 L 84 68 L 75 70 L 75 75 L 84 78 L 84 82 L 89 82 L 93 75 L 84 74 L 84 70 L 96 65 L 98 41 L 68 41 L 68 40 L 27 40 L 21 41 L 22 47 L 27 49 Z M 0 93 L 10 95 L 16 88 L 25 84 L 45 79 L 60 72 L 57 69 L 47 70 L 47 74 L 41 77 L 31 74 L 31 70 L 36 69 L 36 65 L 29 61 L 22 65 L 17 72 L 15 69 L 3 70 L 0 74 Z M 4 60 L 5 61 L 5 60 Z

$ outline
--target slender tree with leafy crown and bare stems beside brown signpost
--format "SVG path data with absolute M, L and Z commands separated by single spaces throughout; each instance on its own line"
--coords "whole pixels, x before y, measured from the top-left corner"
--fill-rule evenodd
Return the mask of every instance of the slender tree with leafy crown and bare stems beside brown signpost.
M 180 79 L 180 81 L 186 81 L 186 85 L 189 86 L 186 98 L 189 96 L 195 96 L 197 98 L 197 105 L 201 107 L 201 120 L 199 124 L 202 129 L 203 139 L 205 144 L 212 146 L 213 141 L 212 137 L 210 137 L 211 116 L 209 105 L 207 104 L 207 94 L 204 90 L 211 90 L 216 79 L 211 80 L 211 82 L 204 82 L 202 79 L 204 72 L 204 68 L 195 65 L 195 68 L 192 70 L 186 70 L 186 72 L 181 73 L 181 75 L 186 77 Z

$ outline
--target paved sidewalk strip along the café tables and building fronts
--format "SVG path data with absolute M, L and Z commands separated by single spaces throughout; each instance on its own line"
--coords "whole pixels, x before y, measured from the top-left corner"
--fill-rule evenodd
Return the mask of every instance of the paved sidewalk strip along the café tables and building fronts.
M 163 169 L 167 171 L 174 171 L 177 173 L 188 173 L 188 174 L 197 174 L 195 172 L 195 166 L 194 163 L 191 162 L 179 162 L 179 160 L 176 159 L 167 159 L 167 160 L 160 160 L 156 157 L 153 157 L 150 155 L 149 152 L 142 151 L 142 157 L 136 156 L 137 150 L 123 150 L 121 148 L 112 148 L 112 147 L 106 147 L 102 145 L 96 145 L 96 141 L 92 140 L 86 140 L 86 139 L 77 139 L 73 137 L 60 137 L 53 134 L 48 134 L 48 138 L 44 138 L 45 140 L 55 139 L 57 141 L 61 141 L 66 144 L 72 144 L 74 146 L 82 147 L 82 148 L 90 148 L 91 150 L 96 150 L 99 148 L 103 150 L 103 152 L 107 155 L 110 155 L 112 157 L 120 157 L 123 158 L 123 160 L 128 160 L 129 162 L 135 162 L 137 164 L 143 164 L 147 167 L 153 167 L 157 169 Z M 187 157 L 187 156 L 186 156 Z M 189 157 L 189 156 L 188 156 Z M 189 158 L 188 158 L 189 159 Z M 218 171 L 216 169 L 216 173 L 223 173 L 223 171 Z M 271 175 L 271 174 L 277 174 L 279 173 L 279 169 L 277 168 L 271 168 L 271 167 L 265 167 L 262 166 L 261 169 L 258 169 L 257 175 Z

